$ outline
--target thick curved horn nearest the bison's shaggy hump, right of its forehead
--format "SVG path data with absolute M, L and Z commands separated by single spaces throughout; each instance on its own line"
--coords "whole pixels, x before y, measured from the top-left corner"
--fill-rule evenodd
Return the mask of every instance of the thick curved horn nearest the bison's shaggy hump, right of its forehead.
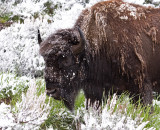
M 78 28 L 78 32 L 80 35 L 80 42 L 79 42 L 79 44 L 72 46 L 72 52 L 74 54 L 81 53 L 85 49 L 85 44 L 86 44 L 86 40 L 84 38 L 82 30 L 79 27 L 77 27 L 77 28 Z

